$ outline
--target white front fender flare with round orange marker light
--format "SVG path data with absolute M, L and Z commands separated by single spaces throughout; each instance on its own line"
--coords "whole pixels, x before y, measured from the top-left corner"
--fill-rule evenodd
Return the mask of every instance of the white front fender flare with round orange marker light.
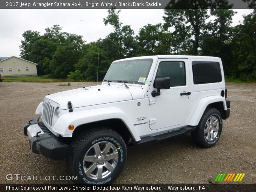
M 130 122 L 126 114 L 120 108 L 115 107 L 90 109 L 63 114 L 54 124 L 52 131 L 57 132 L 63 137 L 72 137 L 72 134 L 76 127 L 82 124 L 108 119 L 122 120 L 122 122 L 124 122 L 124 124 L 128 128 L 129 132 L 132 134 L 134 140 L 140 140 L 140 136 L 137 130 L 134 128 L 133 124 Z M 75 129 L 72 131 L 68 129 L 68 126 L 71 124 L 75 127 Z

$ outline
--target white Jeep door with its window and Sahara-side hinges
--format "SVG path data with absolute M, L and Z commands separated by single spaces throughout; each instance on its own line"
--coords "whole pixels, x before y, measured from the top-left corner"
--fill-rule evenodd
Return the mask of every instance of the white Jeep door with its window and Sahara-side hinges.
M 188 122 L 190 83 L 188 59 L 159 59 L 154 76 L 170 77 L 170 89 L 161 89 L 160 96 L 152 97 L 156 90 L 150 86 L 150 128 L 172 129 Z M 180 95 L 185 93 L 184 95 Z

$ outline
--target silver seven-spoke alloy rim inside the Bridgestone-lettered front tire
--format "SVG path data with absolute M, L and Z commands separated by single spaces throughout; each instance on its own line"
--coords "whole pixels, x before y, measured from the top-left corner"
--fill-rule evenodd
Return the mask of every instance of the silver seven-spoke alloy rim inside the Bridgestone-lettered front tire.
M 106 178 L 114 171 L 118 163 L 118 151 L 110 142 L 98 142 L 85 154 L 83 161 L 84 173 L 91 179 Z

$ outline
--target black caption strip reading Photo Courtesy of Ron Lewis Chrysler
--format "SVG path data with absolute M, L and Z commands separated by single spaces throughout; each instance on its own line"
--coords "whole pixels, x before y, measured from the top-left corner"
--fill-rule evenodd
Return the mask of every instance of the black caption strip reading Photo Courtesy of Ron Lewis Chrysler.
M 0 184 L 1 192 L 255 192 L 256 184 L 109 184 L 86 186 L 82 184 Z

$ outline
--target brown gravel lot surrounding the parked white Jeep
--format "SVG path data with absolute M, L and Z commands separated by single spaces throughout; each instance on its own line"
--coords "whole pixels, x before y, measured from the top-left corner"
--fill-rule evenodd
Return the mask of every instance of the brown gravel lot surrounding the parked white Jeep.
M 70 183 L 39 180 L 66 176 L 65 160 L 54 161 L 30 152 L 23 125 L 35 116 L 47 94 L 95 85 L 94 82 L 0 84 L 0 183 Z M 231 113 L 222 136 L 208 149 L 193 144 L 190 134 L 138 147 L 128 158 L 116 183 L 208 183 L 219 172 L 245 173 L 242 183 L 256 183 L 256 84 L 226 83 Z M 6 180 L 6 174 L 38 176 L 38 180 Z

